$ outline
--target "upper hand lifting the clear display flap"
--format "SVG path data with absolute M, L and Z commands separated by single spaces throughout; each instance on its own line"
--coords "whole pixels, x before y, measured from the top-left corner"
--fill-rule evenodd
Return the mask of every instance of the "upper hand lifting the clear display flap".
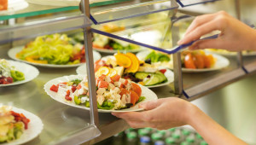
M 218 38 L 197 41 L 189 49 L 256 49 L 256 31 L 224 11 L 196 17 L 178 44 L 188 44 L 216 30 L 221 32 Z

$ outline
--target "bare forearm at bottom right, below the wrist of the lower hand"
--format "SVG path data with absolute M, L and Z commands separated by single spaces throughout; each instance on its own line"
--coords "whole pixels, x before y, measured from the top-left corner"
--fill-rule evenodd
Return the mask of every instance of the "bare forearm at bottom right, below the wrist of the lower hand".
M 198 107 L 194 107 L 189 112 L 189 125 L 193 126 L 196 131 L 211 145 L 232 144 L 241 145 L 247 144 L 241 139 L 226 131 L 224 127 L 218 125 L 207 114 L 203 113 Z

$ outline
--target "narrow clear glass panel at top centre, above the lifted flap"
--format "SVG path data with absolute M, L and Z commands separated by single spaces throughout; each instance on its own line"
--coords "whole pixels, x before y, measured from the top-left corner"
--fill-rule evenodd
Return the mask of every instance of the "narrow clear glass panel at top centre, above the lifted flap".
M 91 8 L 90 14 L 91 20 L 95 24 L 102 24 L 177 8 L 178 5 L 175 0 L 143 0 L 140 2 L 136 0 Z

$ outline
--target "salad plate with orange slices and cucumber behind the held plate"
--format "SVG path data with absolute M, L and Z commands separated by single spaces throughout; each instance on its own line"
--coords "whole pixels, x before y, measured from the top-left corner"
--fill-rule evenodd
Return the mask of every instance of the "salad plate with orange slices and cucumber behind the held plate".
M 145 61 L 139 61 L 131 53 L 108 55 L 95 62 L 96 76 L 101 74 L 119 74 L 121 78 L 142 84 L 148 88 L 160 87 L 173 82 L 171 70 L 164 67 L 154 67 Z M 85 66 L 77 68 L 78 74 L 86 74 Z

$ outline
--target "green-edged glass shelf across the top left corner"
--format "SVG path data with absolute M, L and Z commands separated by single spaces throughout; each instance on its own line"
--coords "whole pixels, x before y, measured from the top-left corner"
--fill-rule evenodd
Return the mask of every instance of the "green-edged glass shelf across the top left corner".
M 110 1 L 99 1 L 96 3 L 91 3 L 90 7 L 98 7 L 102 5 L 109 5 L 113 3 L 122 3 L 130 0 L 110 0 Z M 25 9 L 20 10 L 8 10 L 8 11 L 0 11 L 0 20 L 9 20 L 13 18 L 21 18 L 21 17 L 30 17 L 40 14 L 52 14 L 57 12 L 67 12 L 70 10 L 79 10 L 79 6 L 50 6 L 50 5 L 40 5 L 33 3 L 26 3 L 28 5 Z

